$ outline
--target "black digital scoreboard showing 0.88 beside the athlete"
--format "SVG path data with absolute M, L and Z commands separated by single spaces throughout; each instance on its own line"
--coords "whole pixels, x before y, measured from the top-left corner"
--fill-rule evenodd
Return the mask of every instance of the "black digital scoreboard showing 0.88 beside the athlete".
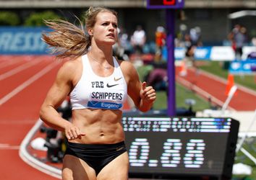
M 238 121 L 127 116 L 122 123 L 130 177 L 231 179 Z

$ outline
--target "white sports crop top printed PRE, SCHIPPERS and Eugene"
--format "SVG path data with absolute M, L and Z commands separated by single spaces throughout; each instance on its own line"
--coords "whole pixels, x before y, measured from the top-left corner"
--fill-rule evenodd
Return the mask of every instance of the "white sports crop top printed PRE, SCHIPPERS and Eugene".
M 82 55 L 82 76 L 70 93 L 72 109 L 121 109 L 127 99 L 127 83 L 119 63 L 114 60 L 114 73 L 97 76 L 88 55 Z

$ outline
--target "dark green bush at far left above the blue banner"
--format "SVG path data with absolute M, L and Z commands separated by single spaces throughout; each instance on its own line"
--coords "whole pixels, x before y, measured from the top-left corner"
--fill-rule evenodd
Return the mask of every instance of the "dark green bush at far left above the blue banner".
M 1 26 L 17 26 L 20 24 L 20 17 L 15 12 L 0 12 Z

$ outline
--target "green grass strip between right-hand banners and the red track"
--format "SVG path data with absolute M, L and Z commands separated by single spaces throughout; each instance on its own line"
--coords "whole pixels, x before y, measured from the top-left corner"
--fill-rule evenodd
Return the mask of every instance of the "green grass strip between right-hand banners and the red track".
M 228 62 L 207 61 L 207 63 L 204 63 L 204 66 L 200 66 L 200 69 L 227 79 L 229 71 L 226 69 L 226 66 L 228 64 Z M 255 75 L 235 75 L 234 83 L 256 91 Z

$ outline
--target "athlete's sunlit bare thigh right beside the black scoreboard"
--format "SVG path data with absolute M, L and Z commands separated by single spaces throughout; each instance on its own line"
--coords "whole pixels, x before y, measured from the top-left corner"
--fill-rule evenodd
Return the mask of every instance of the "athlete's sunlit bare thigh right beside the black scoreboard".
M 97 180 L 126 180 L 128 179 L 129 158 L 128 153 L 122 153 L 108 163 L 98 174 Z

